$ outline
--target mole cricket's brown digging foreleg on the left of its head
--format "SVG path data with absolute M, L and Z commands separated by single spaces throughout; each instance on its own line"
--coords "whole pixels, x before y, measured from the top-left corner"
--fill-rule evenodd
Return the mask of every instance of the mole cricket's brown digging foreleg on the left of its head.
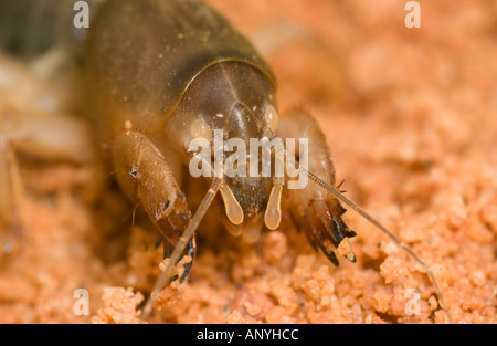
M 113 159 L 120 188 L 134 203 L 144 208 L 162 237 L 165 258 L 170 256 L 191 218 L 171 165 L 156 145 L 138 130 L 125 130 L 115 139 Z M 191 243 L 183 254 L 193 256 L 193 251 Z M 187 277 L 190 268 L 191 262 L 186 265 L 181 281 Z

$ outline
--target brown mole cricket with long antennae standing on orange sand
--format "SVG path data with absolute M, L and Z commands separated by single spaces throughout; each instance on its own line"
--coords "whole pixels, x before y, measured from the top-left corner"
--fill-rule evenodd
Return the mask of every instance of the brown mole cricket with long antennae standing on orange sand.
M 222 222 L 237 233 L 275 230 L 282 209 L 289 210 L 314 249 L 335 265 L 335 252 L 356 262 L 349 239 L 357 234 L 342 220 L 346 209 L 341 205 L 348 206 L 423 266 L 451 321 L 430 266 L 336 187 L 331 154 L 319 125 L 304 112 L 278 115 L 277 83 L 271 67 L 222 14 L 198 0 L 107 0 L 95 11 L 80 46 L 81 80 L 91 81 L 82 96 L 83 113 L 93 124 L 95 138 L 110 144 L 109 161 L 120 189 L 145 210 L 163 241 L 163 258 L 169 259 L 142 318 L 150 315 L 157 293 L 168 281 L 188 277 L 194 233 L 202 231 L 199 224 L 215 202 L 225 211 Z M 7 128 L 6 124 L 17 122 L 14 116 L 3 117 L 0 125 Z M 60 117 L 46 117 L 45 124 L 52 132 L 66 134 L 76 126 Z M 215 136 L 220 130 L 221 137 Z M 15 138 L 14 133 L 10 136 Z M 65 159 L 87 161 L 77 158 L 87 139 L 74 137 L 45 141 L 39 136 L 36 144 L 50 153 L 45 155 L 49 160 L 63 151 L 60 155 Z M 239 140 L 237 145 L 229 145 L 230 139 Z M 278 139 L 281 146 L 271 145 Z M 284 144 L 288 139 L 307 141 L 289 155 Z M 202 149 L 203 155 L 198 145 L 192 146 L 195 140 L 209 147 Z M 245 151 L 254 140 L 255 150 Z M 9 144 L 15 149 L 15 140 Z M 234 147 L 240 155 L 228 157 L 226 150 L 234 151 Z M 12 230 L 19 184 L 11 149 L 7 144 L 0 149 L 8 167 L 0 185 L 8 192 L 0 217 Z M 271 160 L 261 162 L 260 155 Z M 192 212 L 183 193 L 187 178 L 181 177 L 199 165 L 210 187 Z M 237 174 L 229 174 L 230 168 Z M 288 189 L 296 176 L 308 184 Z M 178 263 L 181 271 L 175 271 Z

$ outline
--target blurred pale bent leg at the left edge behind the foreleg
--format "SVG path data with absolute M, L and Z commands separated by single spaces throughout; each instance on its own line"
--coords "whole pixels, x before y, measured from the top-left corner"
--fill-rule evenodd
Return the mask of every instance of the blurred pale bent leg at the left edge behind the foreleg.
M 84 122 L 57 113 L 0 109 L 0 254 L 18 248 L 25 228 L 19 154 L 41 162 L 76 165 L 82 168 L 77 179 L 83 185 L 98 170 Z

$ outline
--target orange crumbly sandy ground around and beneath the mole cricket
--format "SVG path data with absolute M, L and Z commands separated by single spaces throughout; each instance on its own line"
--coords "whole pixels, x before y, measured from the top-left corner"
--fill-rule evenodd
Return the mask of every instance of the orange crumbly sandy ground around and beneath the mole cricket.
M 274 69 L 282 113 L 318 119 L 347 196 L 431 265 L 453 321 L 496 323 L 496 4 L 419 1 L 421 28 L 408 29 L 406 1 L 210 2 Z M 0 260 L 0 322 L 139 322 L 160 271 L 154 234 L 98 188 L 109 177 L 21 167 L 25 228 Z M 189 280 L 160 293 L 150 321 L 446 323 L 422 268 L 353 211 L 345 218 L 358 260 L 338 268 L 287 217 L 255 244 L 200 234 Z M 419 314 L 406 315 L 416 292 Z

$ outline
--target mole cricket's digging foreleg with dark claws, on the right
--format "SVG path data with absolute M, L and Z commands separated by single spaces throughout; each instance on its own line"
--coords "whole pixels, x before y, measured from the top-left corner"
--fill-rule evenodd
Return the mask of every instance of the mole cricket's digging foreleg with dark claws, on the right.
M 306 113 L 292 113 L 281 118 L 279 135 L 283 138 L 307 138 L 307 148 L 299 147 L 295 157 L 306 155 L 307 169 L 327 184 L 335 185 L 335 168 L 326 137 L 316 120 Z M 287 157 L 287 164 L 292 158 Z M 315 248 L 320 249 L 336 265 L 338 254 L 355 262 L 356 256 L 347 238 L 356 235 L 341 219 L 345 209 L 328 191 L 315 184 L 307 184 L 302 189 L 288 189 L 285 203 L 293 210 L 292 217 L 299 228 L 304 228 L 307 238 Z

